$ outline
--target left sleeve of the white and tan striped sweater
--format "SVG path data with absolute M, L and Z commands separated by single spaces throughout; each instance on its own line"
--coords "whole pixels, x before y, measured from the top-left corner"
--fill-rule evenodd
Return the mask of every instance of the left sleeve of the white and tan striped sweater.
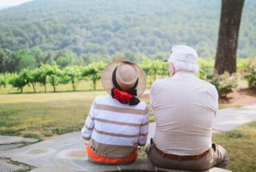
M 91 109 L 89 111 L 89 114 L 85 120 L 84 123 L 84 127 L 82 127 L 82 138 L 84 138 L 85 140 L 90 140 L 91 138 L 91 133 L 93 131 L 93 127 L 94 127 L 94 104 L 95 104 L 95 100 L 93 101 L 93 104 L 91 105 Z

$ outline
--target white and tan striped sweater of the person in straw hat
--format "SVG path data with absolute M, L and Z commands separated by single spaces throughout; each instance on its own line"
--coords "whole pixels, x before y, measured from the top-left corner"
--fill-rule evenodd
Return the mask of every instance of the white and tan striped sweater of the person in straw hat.
M 125 157 L 147 141 L 149 111 L 144 102 L 130 106 L 111 96 L 98 96 L 93 101 L 82 128 L 95 153 L 104 157 Z

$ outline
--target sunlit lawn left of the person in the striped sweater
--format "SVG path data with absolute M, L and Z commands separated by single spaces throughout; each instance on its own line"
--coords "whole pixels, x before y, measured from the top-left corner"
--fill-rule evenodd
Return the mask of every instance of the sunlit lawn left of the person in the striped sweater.
M 47 138 L 79 131 L 95 96 L 105 92 L 0 95 L 0 134 Z

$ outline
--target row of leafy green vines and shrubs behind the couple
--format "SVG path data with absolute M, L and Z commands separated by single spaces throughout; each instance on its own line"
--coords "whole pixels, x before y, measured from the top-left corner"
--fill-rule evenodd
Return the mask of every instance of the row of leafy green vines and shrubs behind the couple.
M 232 92 L 237 87 L 237 80 L 246 79 L 248 87 L 255 89 L 256 87 L 256 58 L 254 59 L 240 59 L 237 64 L 237 74 L 222 74 L 217 75 L 213 72 L 213 61 L 200 60 L 199 78 L 208 80 L 210 83 L 217 87 L 219 95 L 225 97 L 226 94 Z M 98 61 L 86 66 L 68 66 L 60 67 L 59 65 L 49 65 L 42 63 L 40 67 L 30 69 L 22 69 L 19 73 L 4 73 L 0 74 L 0 88 L 5 93 L 8 93 L 10 85 L 17 88 L 17 92 L 23 93 L 24 87 L 29 87 L 34 93 L 42 92 L 41 87 L 44 87 L 44 92 L 49 92 L 48 87 L 51 86 L 53 92 L 58 91 L 58 87 L 64 85 L 71 85 L 72 91 L 77 91 L 77 86 L 82 84 L 86 90 L 96 90 L 97 84 L 100 81 L 101 72 L 106 63 Z M 159 60 L 145 59 L 139 64 L 147 75 L 148 85 L 150 85 L 157 78 L 164 78 L 169 76 L 168 64 Z M 88 84 L 90 83 L 90 84 Z M 91 86 L 90 86 L 91 85 Z M 88 89 L 91 87 L 90 89 Z M 71 90 L 61 89 L 62 92 Z

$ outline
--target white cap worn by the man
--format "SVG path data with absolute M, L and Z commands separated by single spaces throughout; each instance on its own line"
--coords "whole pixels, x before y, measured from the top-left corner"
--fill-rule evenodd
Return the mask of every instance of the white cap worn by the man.
M 172 54 L 170 58 L 168 58 L 168 62 L 170 62 L 171 59 L 197 65 L 198 54 L 196 53 L 196 50 L 187 45 L 174 45 L 172 47 Z

